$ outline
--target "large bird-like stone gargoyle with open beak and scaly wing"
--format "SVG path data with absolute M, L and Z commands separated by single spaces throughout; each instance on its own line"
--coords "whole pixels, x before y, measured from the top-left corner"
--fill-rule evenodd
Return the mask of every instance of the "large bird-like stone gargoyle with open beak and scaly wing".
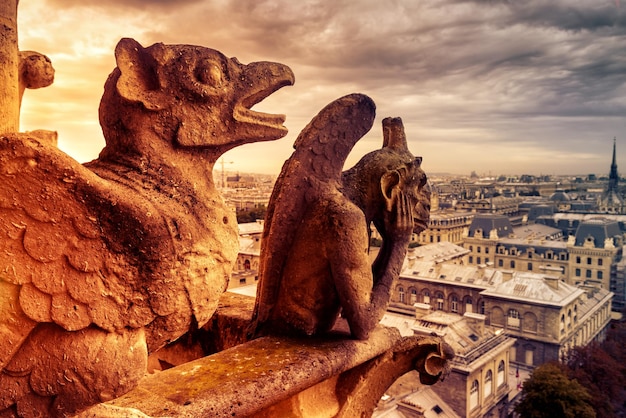
M 122 39 L 106 146 L 81 165 L 0 137 L 0 416 L 66 416 L 144 376 L 148 353 L 214 314 L 238 252 L 212 178 L 225 151 L 287 132 L 251 107 L 294 76 L 189 45 Z

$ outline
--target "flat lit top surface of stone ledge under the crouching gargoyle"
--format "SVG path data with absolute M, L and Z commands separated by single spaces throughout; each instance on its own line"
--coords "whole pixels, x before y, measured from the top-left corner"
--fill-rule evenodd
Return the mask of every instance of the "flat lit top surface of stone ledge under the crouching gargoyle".
M 369 340 L 263 337 L 157 372 L 110 405 L 152 417 L 242 417 L 285 400 L 391 349 L 396 330 Z

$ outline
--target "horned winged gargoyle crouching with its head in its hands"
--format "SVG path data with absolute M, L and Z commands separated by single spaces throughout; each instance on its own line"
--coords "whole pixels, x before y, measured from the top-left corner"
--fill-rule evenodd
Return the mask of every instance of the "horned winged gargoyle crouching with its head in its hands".
M 298 136 L 265 219 L 252 336 L 319 335 L 341 313 L 366 339 L 384 315 L 411 235 L 427 227 L 430 191 L 400 118 L 384 119 L 383 147 L 342 173 L 374 117 L 373 101 L 352 94 Z M 382 237 L 373 264 L 371 223 Z

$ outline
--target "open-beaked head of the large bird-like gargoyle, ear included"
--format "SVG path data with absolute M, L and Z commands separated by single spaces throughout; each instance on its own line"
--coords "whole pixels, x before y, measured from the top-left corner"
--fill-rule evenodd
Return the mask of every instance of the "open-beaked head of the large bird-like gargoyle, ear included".
M 220 155 L 287 133 L 284 115 L 251 110 L 293 84 L 293 73 L 285 65 L 243 65 L 200 46 L 157 43 L 144 48 L 128 38 L 118 43 L 115 58 L 117 68 L 100 104 L 107 146 L 116 140 L 130 146 L 120 132 L 149 127 L 177 147 L 211 148 Z

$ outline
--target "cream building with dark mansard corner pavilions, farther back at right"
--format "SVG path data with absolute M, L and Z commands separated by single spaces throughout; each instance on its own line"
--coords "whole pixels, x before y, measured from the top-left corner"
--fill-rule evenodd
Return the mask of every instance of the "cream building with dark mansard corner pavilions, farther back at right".
M 616 219 L 578 219 L 575 232 L 565 240 L 561 228 L 545 224 L 514 228 L 506 216 L 477 214 L 463 246 L 469 250 L 467 265 L 539 273 L 570 285 L 600 287 L 614 293 L 615 310 L 624 307 L 626 265 L 620 264 L 624 236 Z

